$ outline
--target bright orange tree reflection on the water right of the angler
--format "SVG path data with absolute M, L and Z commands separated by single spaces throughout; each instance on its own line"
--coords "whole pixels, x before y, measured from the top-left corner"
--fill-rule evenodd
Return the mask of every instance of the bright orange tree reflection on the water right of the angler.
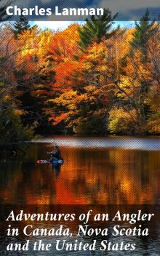
M 157 195 L 158 153 L 146 151 L 71 151 L 60 185 L 72 187 L 85 202 L 152 204 Z M 65 167 L 64 167 L 65 168 Z

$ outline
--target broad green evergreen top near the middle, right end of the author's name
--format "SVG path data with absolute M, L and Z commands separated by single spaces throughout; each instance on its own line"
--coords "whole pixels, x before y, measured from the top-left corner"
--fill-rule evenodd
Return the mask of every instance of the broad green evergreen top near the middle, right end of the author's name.
M 105 39 L 110 39 L 118 28 L 111 31 L 111 27 L 113 25 L 113 20 L 117 17 L 116 15 L 111 15 L 111 11 L 109 9 L 104 9 L 104 14 L 101 16 L 92 15 L 89 19 L 86 19 L 86 24 L 83 28 L 79 28 L 79 36 L 80 42 L 79 46 L 82 50 L 86 49 L 93 42 L 100 43 L 103 37 Z

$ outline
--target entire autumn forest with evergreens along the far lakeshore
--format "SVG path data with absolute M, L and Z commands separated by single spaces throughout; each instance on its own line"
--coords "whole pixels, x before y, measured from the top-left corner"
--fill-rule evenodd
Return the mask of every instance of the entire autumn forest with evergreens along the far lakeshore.
M 0 26 L 1 145 L 35 135 L 160 132 L 160 26 L 116 15 L 41 30 L 21 16 Z

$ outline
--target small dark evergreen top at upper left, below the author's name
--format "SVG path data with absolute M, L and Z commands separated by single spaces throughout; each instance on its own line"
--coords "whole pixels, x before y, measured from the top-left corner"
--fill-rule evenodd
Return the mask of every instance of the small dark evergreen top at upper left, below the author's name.
M 17 36 L 23 31 L 26 31 L 30 28 L 28 18 L 21 15 L 20 19 L 14 24 L 13 32 L 15 34 L 15 39 L 17 39 Z

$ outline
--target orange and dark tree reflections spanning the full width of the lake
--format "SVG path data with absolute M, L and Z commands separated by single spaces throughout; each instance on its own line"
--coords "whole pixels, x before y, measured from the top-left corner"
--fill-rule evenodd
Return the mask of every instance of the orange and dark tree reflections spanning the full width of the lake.
M 43 159 L 45 145 L 28 156 Z M 65 164 L 56 177 L 49 164 L 4 164 L 2 201 L 27 204 L 156 204 L 159 153 L 156 151 L 86 151 L 62 149 Z M 5 172 L 4 172 L 5 169 Z

